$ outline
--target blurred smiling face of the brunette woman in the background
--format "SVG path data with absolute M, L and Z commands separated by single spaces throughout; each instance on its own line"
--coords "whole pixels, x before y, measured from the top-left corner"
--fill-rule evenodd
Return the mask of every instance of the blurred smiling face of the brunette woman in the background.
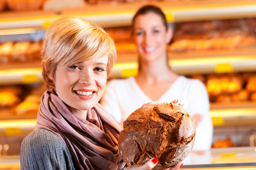
M 155 13 L 138 15 L 134 21 L 134 42 L 144 62 L 166 57 L 166 45 L 171 40 L 171 30 L 166 31 L 162 18 Z

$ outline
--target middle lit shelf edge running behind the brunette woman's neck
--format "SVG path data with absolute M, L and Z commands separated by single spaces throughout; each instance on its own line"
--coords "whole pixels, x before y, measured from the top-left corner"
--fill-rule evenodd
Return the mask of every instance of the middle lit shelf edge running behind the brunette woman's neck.
M 169 57 L 173 71 L 182 75 L 256 71 L 255 49 L 169 53 Z M 136 53 L 118 54 L 109 78 L 136 75 L 137 67 Z M 39 61 L 2 65 L 0 85 L 42 82 L 41 73 Z

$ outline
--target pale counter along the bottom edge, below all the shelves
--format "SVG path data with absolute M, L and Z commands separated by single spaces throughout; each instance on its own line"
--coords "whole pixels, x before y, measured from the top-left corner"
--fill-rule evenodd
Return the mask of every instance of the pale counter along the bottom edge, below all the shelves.
M 184 170 L 256 170 L 256 147 L 212 148 L 192 152 L 183 163 L 181 169 Z M 0 157 L 0 170 L 10 169 L 20 170 L 19 155 Z

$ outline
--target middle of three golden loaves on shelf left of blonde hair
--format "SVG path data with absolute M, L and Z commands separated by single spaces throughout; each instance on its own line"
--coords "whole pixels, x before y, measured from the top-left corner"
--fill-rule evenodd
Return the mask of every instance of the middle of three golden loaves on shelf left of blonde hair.
M 28 60 L 27 51 L 30 44 L 29 41 L 16 42 L 12 49 L 11 60 L 14 62 L 26 62 Z

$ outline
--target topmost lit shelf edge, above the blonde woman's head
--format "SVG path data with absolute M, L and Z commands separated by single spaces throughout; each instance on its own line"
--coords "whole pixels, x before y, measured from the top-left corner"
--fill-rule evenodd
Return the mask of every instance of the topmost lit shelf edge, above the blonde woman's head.
M 145 3 L 87 5 L 84 8 L 54 11 L 1 12 L 0 29 L 46 28 L 63 16 L 92 20 L 102 26 L 128 26 L 135 11 Z M 150 2 L 162 7 L 170 22 L 248 18 L 256 16 L 255 0 L 204 0 L 195 2 Z

